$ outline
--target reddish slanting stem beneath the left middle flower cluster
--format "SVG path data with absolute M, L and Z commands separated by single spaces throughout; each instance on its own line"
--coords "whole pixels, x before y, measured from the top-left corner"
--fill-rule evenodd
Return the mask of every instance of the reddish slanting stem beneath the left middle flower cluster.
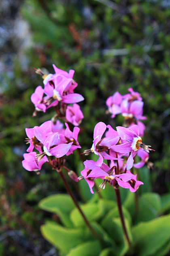
M 98 240 L 101 240 L 101 239 L 100 239 L 100 236 L 99 236 L 99 235 L 96 233 L 96 231 L 92 228 L 92 226 L 90 225 L 88 219 L 85 217 L 83 211 L 81 210 L 81 208 L 80 208 L 80 206 L 79 206 L 79 204 L 78 204 L 76 198 L 74 197 L 74 195 L 73 195 L 73 193 L 72 193 L 70 187 L 68 186 L 68 183 L 67 183 L 67 181 L 66 181 L 66 178 L 64 177 L 64 174 L 62 173 L 62 171 L 59 171 L 58 174 L 59 174 L 60 177 L 62 178 L 62 181 L 63 181 L 63 183 L 64 183 L 64 185 L 65 185 L 65 187 L 66 187 L 67 192 L 69 193 L 69 195 L 70 195 L 70 197 L 72 198 L 72 200 L 73 200 L 75 206 L 76 206 L 77 209 L 79 210 L 79 213 L 80 213 L 81 216 L 83 217 L 83 219 L 84 219 L 84 221 L 85 221 L 87 227 L 89 228 L 89 230 L 91 231 L 91 233 L 92 233 Z

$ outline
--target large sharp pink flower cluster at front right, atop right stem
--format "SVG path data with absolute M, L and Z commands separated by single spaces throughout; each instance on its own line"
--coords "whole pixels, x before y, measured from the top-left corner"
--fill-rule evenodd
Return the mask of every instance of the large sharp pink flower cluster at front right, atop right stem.
M 108 128 L 105 137 L 102 138 L 104 132 Z M 142 167 L 149 158 L 149 145 L 142 143 L 139 136 L 139 126 L 132 125 L 129 128 L 117 127 L 117 131 L 110 125 L 106 126 L 103 122 L 96 124 L 94 128 L 94 141 L 89 150 L 85 150 L 85 154 L 94 153 L 98 155 L 96 162 L 87 160 L 84 162 L 85 169 L 81 171 L 79 179 L 85 179 L 89 184 L 91 193 L 94 193 L 92 187 L 94 180 L 100 178 L 103 182 L 100 184 L 101 188 L 105 188 L 106 182 L 111 186 L 117 185 L 128 188 L 135 192 L 143 182 L 136 180 L 136 176 L 130 172 L 133 165 L 136 168 Z M 134 157 L 139 154 L 141 161 L 134 164 Z M 127 159 L 127 161 L 124 161 Z M 104 163 L 104 160 L 107 161 Z

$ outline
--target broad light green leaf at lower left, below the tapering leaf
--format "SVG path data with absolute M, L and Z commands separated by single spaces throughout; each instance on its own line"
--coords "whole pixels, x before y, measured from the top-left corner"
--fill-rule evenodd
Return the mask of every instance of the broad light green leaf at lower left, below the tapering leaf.
M 63 254 L 67 254 L 70 249 L 87 240 L 82 229 L 64 228 L 59 224 L 45 224 L 41 226 L 41 232 L 45 239 L 55 245 Z

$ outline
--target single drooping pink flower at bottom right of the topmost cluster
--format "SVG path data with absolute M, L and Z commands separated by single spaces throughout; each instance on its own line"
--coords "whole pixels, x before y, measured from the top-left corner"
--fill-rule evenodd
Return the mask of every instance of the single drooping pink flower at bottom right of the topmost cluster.
M 79 126 L 81 120 L 84 118 L 83 113 L 80 110 L 80 106 L 76 103 L 73 106 L 67 106 L 66 119 L 74 126 Z

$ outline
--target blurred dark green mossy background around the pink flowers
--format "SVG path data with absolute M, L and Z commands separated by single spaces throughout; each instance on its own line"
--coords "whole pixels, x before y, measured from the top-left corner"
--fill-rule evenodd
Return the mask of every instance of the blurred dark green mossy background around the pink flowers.
M 106 115 L 106 99 L 132 87 L 141 93 L 152 145 L 152 190 L 170 191 L 170 0 L 1 0 L 0 1 L 0 256 L 57 256 L 40 234 L 51 215 L 38 202 L 66 193 L 57 173 L 23 169 L 25 128 L 49 120 L 32 117 L 30 95 L 52 64 L 75 69 L 84 120 L 80 143 L 91 147 L 94 126 L 113 127 L 122 118 Z M 82 151 L 83 152 L 83 151 Z M 68 158 L 74 169 L 74 155 Z

